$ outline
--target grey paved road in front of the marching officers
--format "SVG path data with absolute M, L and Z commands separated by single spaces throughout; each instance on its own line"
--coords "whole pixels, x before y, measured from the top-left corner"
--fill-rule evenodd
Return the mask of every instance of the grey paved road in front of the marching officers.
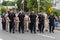
M 31 34 L 25 32 L 25 34 L 16 32 L 15 34 L 3 31 L 0 22 L 0 40 L 60 40 L 60 32 L 55 31 L 55 33 L 36 33 Z

